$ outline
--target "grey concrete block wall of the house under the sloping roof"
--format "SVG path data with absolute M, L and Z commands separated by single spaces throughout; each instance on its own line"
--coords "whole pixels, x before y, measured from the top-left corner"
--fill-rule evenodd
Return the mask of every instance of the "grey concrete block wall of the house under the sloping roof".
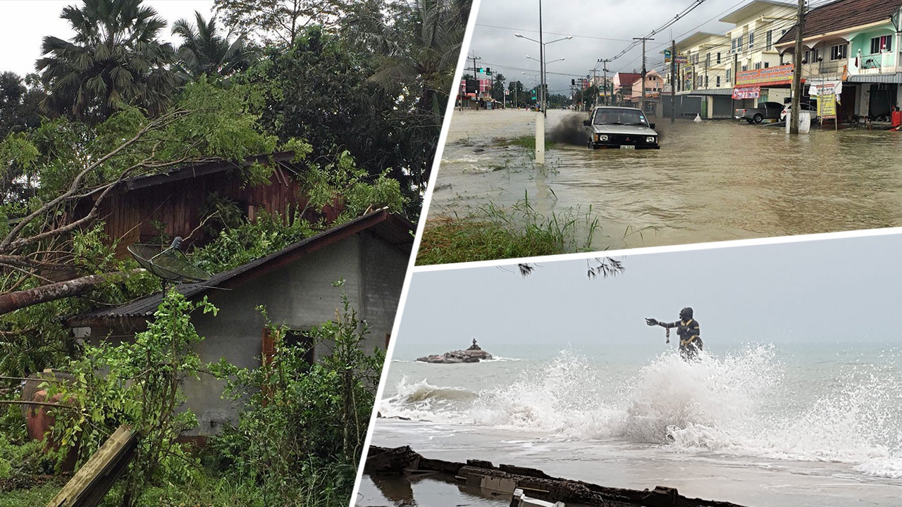
M 235 290 L 212 290 L 210 302 L 217 316 L 193 319 L 200 336 L 206 339 L 197 351 L 204 362 L 225 358 L 242 367 L 260 365 L 264 321 L 255 308 L 262 305 L 276 325 L 306 331 L 327 320 L 335 320 L 345 291 L 358 319 L 371 327 L 367 350 L 385 345 L 391 332 L 408 257 L 364 232 L 328 245 L 281 269 L 270 272 Z M 345 279 L 343 287 L 332 282 Z M 318 347 L 317 355 L 327 353 Z M 198 416 L 197 429 L 186 435 L 215 434 L 229 421 L 237 422 L 238 407 L 221 400 L 223 383 L 209 375 L 187 379 L 183 385 L 188 407 Z

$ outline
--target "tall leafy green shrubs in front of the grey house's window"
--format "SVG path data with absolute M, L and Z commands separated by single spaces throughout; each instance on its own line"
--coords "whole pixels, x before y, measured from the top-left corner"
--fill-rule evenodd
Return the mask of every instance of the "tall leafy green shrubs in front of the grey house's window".
M 384 355 L 364 350 L 369 332 L 346 295 L 336 319 L 311 329 L 307 346 L 287 346 L 270 327 L 274 353 L 262 366 L 216 372 L 226 395 L 242 401 L 238 426 L 210 443 L 216 466 L 237 482 L 259 484 L 267 504 L 344 505 L 354 485 Z M 312 347 L 329 352 L 308 363 Z M 369 353 L 368 353 L 369 352 Z

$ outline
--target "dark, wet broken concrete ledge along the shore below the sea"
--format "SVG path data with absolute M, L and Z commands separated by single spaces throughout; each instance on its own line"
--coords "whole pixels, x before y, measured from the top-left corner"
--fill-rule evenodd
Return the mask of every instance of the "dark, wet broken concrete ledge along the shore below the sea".
M 656 486 L 653 490 L 612 488 L 599 484 L 552 477 L 524 466 L 493 466 L 488 461 L 468 459 L 466 463 L 429 459 L 410 446 L 370 447 L 364 473 L 369 475 L 442 474 L 459 484 L 510 494 L 520 489 L 529 497 L 545 502 L 597 507 L 741 507 L 732 502 L 686 498 L 676 488 Z M 514 505 L 511 502 L 511 505 Z

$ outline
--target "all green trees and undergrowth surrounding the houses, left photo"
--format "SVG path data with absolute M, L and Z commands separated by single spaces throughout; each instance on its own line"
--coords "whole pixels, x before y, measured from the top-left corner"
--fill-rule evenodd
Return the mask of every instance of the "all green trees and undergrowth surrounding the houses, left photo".
M 210 272 L 373 209 L 419 217 L 470 0 L 217 0 L 214 16 L 170 26 L 141 0 L 72 4 L 61 17 L 74 35 L 48 34 L 38 74 L 0 74 L 0 375 L 10 377 L 0 398 L 18 399 L 17 379 L 45 368 L 75 373 L 77 382 L 51 387 L 78 409 L 54 410 L 51 441 L 65 450 L 78 440 L 80 463 L 119 424 L 145 433 L 106 506 L 345 505 L 381 365 L 354 348 L 365 326 L 346 300 L 336 323 L 315 334 L 333 355 L 305 365 L 286 346 L 262 367 L 309 412 L 281 395 L 264 402 L 251 382 L 262 370 L 235 371 L 232 392 L 259 395 L 247 406 L 250 426 L 204 456 L 174 443 L 194 422 L 174 409 L 180 381 L 207 369 L 192 352 L 200 337 L 189 318 L 206 304 L 170 294 L 131 345 L 82 346 L 66 321 L 161 288 L 117 258 L 122 238 L 104 233 L 101 204 L 133 177 L 295 153 L 300 170 L 282 178 L 293 179 L 306 208 L 250 218 L 225 196 L 207 196 L 204 241 L 189 255 Z M 161 41 L 166 30 L 178 47 Z M 235 165 L 245 186 L 272 177 L 268 164 Z M 166 224 L 148 225 L 159 233 L 153 241 L 171 239 Z M 18 408 L 5 413 L 0 504 L 45 503 L 59 487 L 59 456 L 27 442 Z M 306 419 L 276 432 L 291 418 Z M 242 443 L 243 431 L 260 439 Z M 47 477 L 52 484 L 40 485 Z

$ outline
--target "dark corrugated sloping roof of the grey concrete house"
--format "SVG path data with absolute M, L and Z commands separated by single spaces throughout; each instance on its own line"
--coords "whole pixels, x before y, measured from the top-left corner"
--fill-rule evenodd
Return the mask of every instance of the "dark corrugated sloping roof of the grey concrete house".
M 207 290 L 232 285 L 230 282 L 233 281 L 238 281 L 237 284 L 240 284 L 240 281 L 236 279 L 241 278 L 245 273 L 250 274 L 253 272 L 255 275 L 260 275 L 262 274 L 261 271 L 267 266 L 275 269 L 282 263 L 290 262 L 305 253 L 315 252 L 327 244 L 332 244 L 367 229 L 371 229 L 373 234 L 382 237 L 389 244 L 410 252 L 410 248 L 413 246 L 413 235 L 410 235 L 410 231 L 414 230 L 414 228 L 407 218 L 389 213 L 385 209 L 379 209 L 345 222 L 341 226 L 336 226 L 318 235 L 308 237 L 298 243 L 290 244 L 278 252 L 270 253 L 265 257 L 243 264 L 235 269 L 216 273 L 207 281 L 179 284 L 175 287 L 175 290 L 178 290 L 188 298 L 192 298 Z M 266 272 L 268 271 L 266 270 Z M 107 319 L 148 318 L 160 306 L 162 298 L 163 293 L 156 292 L 150 296 L 133 300 L 112 309 L 102 309 L 69 318 L 69 325 L 72 327 L 83 327 L 91 326 L 93 322 Z

